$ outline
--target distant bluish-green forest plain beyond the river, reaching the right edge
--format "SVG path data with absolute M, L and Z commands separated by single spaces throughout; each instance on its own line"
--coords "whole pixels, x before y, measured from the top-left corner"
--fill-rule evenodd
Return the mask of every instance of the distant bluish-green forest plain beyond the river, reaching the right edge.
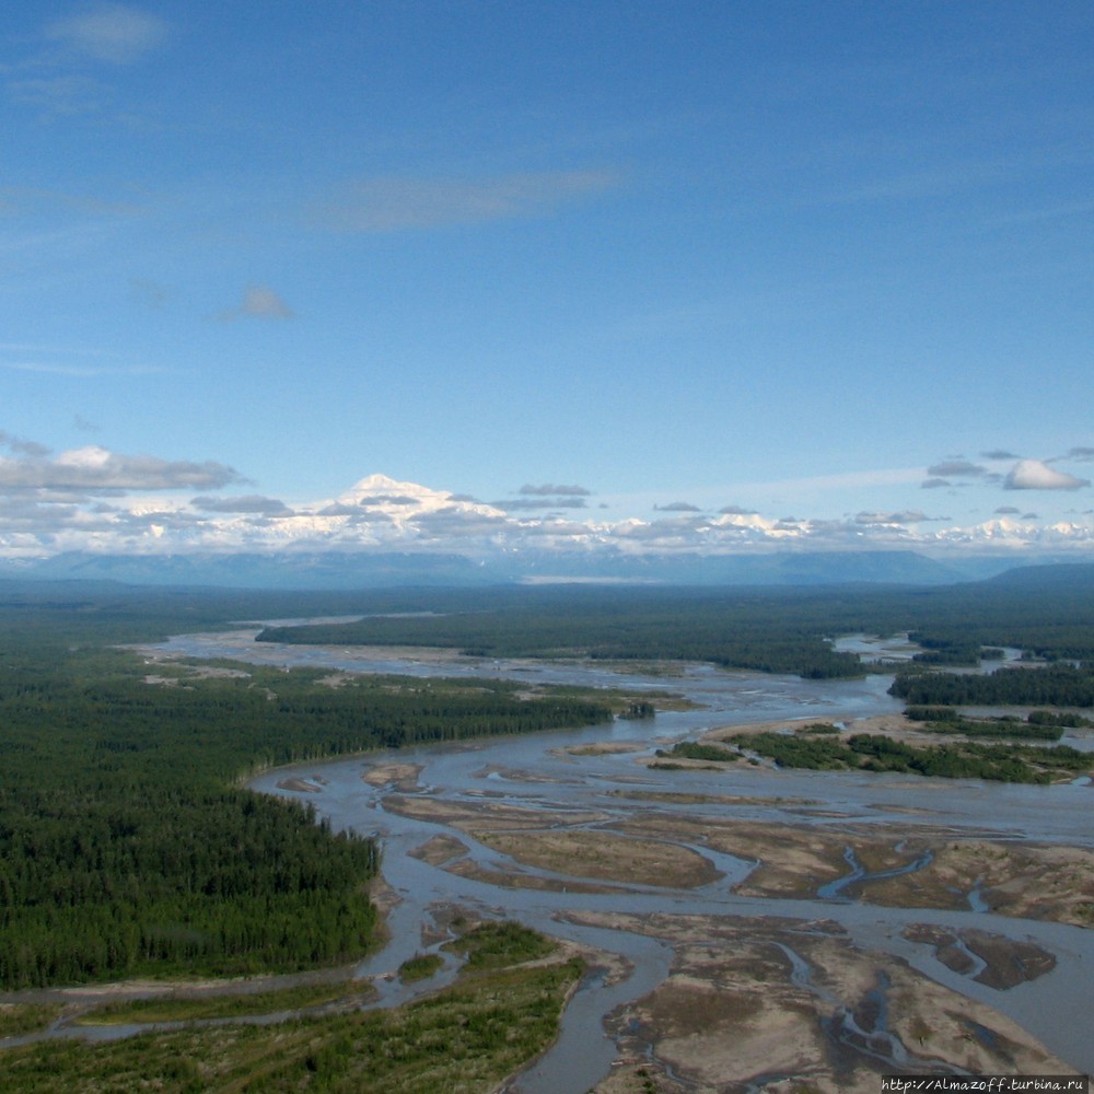
M 1087 569 L 1075 567 L 1082 580 L 1070 584 L 388 592 L 376 594 L 359 621 L 268 627 L 259 641 L 433 645 L 489 657 L 708 661 L 806 678 L 861 675 L 859 659 L 835 652 L 829 641 L 858 632 L 911 632 L 939 662 L 975 663 L 982 649 L 998 647 L 1094 661 Z

